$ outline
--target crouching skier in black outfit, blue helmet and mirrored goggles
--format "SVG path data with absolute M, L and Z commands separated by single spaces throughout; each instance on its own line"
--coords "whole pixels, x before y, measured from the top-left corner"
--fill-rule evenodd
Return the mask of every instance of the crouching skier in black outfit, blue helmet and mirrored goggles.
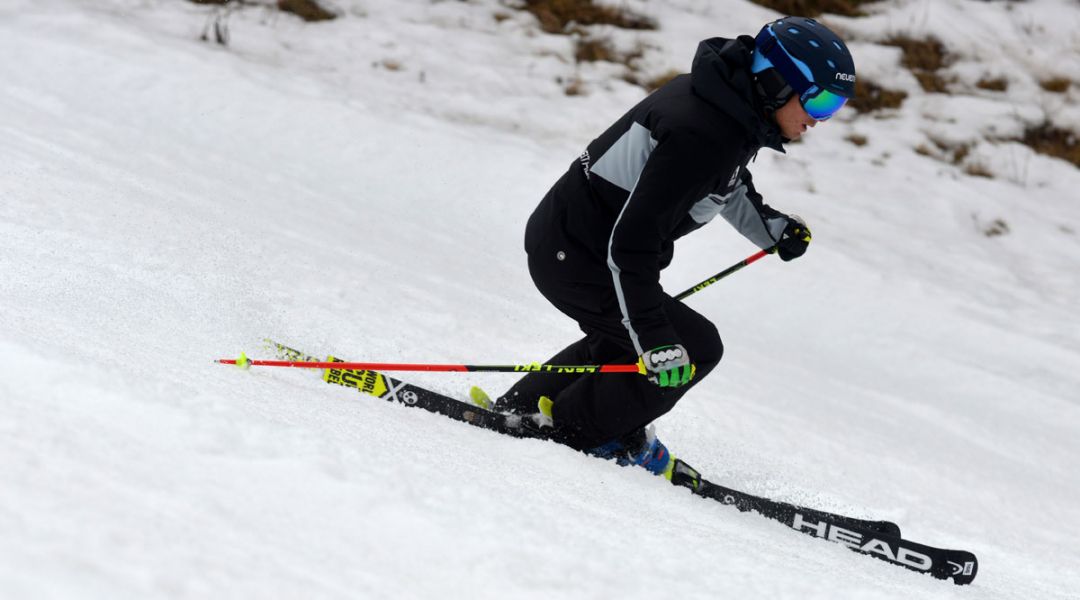
M 660 286 L 673 243 L 719 215 L 784 261 L 801 256 L 810 230 L 766 205 L 746 166 L 832 117 L 854 81 L 847 46 L 810 18 L 701 42 L 691 72 L 594 139 L 525 230 L 532 281 L 585 333 L 549 363 L 637 362 L 647 377 L 530 373 L 494 408 L 670 479 L 674 460 L 647 425 L 724 354 L 716 327 Z

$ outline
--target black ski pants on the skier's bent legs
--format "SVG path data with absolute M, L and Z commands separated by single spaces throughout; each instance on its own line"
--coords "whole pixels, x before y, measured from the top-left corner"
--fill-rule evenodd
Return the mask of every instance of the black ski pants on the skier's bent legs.
M 615 284 L 603 272 L 581 281 L 575 267 L 580 256 L 567 256 L 557 245 L 541 243 L 529 253 L 529 273 L 540 292 L 578 322 L 584 338 L 549 360 L 553 365 L 636 363 L 637 352 L 622 324 Z M 689 384 L 664 388 L 638 373 L 529 373 L 498 399 L 498 408 L 518 413 L 536 412 L 537 400 L 548 396 L 557 434 L 555 438 L 585 450 L 620 439 L 671 410 L 694 384 L 720 362 L 724 344 L 716 327 L 686 304 L 667 296 L 664 313 L 697 366 Z M 675 342 L 676 340 L 672 340 Z M 651 349 L 645 349 L 651 350 Z

